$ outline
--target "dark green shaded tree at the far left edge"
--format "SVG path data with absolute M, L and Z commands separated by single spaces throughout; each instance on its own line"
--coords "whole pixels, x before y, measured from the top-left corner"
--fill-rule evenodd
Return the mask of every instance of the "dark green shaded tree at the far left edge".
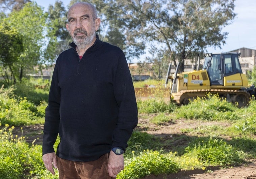
M 12 81 L 15 84 L 16 75 L 13 65 L 18 61 L 20 54 L 24 50 L 22 37 L 17 29 L 0 26 L 0 47 L 1 76 L 7 84 Z

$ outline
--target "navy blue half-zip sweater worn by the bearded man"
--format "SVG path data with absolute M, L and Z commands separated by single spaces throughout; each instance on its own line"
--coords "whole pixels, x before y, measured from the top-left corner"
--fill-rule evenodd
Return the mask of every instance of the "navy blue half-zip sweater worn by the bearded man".
M 97 40 L 82 59 L 70 44 L 56 60 L 45 114 L 43 154 L 92 161 L 127 147 L 137 125 L 137 104 L 124 53 Z

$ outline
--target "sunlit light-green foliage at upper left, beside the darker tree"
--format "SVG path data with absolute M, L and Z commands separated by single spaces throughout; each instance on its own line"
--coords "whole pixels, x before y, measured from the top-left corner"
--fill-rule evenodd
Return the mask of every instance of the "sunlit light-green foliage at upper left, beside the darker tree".
M 15 52 L 16 54 L 10 53 L 12 57 L 4 58 L 8 62 L 13 61 L 9 66 L 12 77 L 15 77 L 12 83 L 16 82 L 16 78 L 21 81 L 27 70 L 33 69 L 34 66 L 40 65 L 44 61 L 42 52 L 45 43 L 46 16 L 47 14 L 36 3 L 26 3 L 20 11 L 12 11 L 2 20 L 0 24 L 3 27 L 0 29 L 1 33 L 4 34 L 4 29 L 9 28 L 14 32 L 12 34 L 15 37 L 12 38 L 16 39 L 15 43 L 9 44 L 9 49 L 15 49 L 19 52 Z M 19 33 L 15 34 L 15 32 Z M 10 79 L 8 71 L 6 76 Z

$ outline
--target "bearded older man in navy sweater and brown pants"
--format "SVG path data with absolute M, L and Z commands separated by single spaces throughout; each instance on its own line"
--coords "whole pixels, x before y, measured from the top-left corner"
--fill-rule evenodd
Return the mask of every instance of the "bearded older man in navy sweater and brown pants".
M 43 161 L 59 178 L 116 178 L 137 125 L 137 104 L 124 53 L 99 40 L 96 8 L 72 5 L 71 48 L 56 60 L 45 114 Z M 55 154 L 53 145 L 60 136 Z

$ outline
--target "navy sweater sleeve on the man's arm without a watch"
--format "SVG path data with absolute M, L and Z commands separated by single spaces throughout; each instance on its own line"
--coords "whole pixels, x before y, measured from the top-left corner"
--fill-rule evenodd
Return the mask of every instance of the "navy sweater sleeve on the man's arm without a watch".
M 44 135 L 43 135 L 43 155 L 46 153 L 54 152 L 53 145 L 56 142 L 59 128 L 59 106 L 60 106 L 60 88 L 58 86 L 57 76 L 57 64 L 56 61 L 51 87 L 48 97 L 48 106 L 45 110 L 45 124 L 44 124 Z

